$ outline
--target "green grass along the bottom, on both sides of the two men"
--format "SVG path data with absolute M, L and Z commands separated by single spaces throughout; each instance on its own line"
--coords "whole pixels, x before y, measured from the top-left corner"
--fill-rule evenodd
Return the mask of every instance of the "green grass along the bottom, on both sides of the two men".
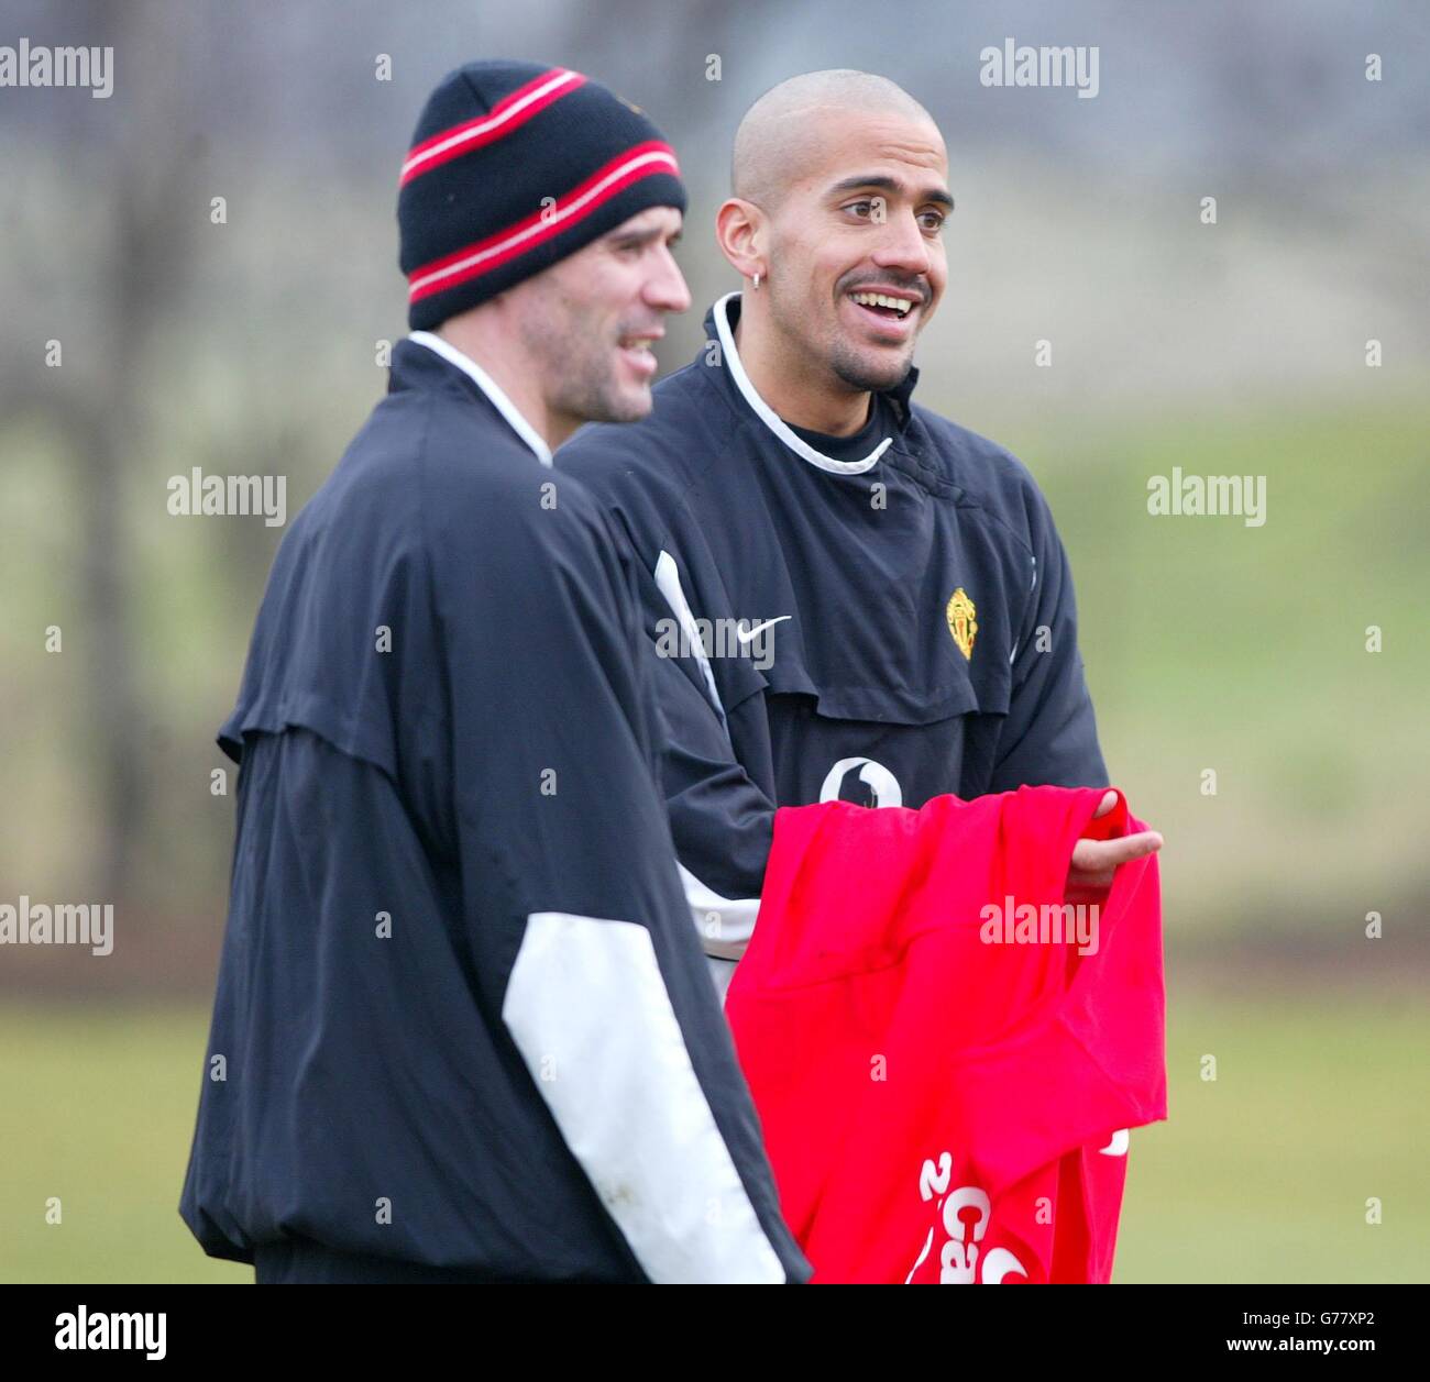
M 189 1006 L 0 1008 L 0 1281 L 252 1281 L 176 1211 L 206 1023 Z M 1430 1278 L 1427 1049 L 1410 990 L 1174 993 L 1171 1119 L 1133 1135 L 1117 1279 Z

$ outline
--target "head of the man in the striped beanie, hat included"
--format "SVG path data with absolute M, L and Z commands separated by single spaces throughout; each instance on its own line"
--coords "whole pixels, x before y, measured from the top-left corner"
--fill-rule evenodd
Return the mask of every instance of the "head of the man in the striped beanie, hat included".
M 551 447 L 651 410 L 651 342 L 691 299 L 669 257 L 685 187 L 641 111 L 565 67 L 469 63 L 428 100 L 400 184 L 418 340 L 476 354 Z

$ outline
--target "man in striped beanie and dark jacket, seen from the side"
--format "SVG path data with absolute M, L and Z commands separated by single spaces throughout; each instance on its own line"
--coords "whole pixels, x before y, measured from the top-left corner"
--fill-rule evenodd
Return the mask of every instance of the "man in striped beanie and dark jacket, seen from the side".
M 180 1213 L 266 1281 L 805 1281 L 655 787 L 633 572 L 551 450 L 651 407 L 685 193 L 566 69 L 432 94 L 413 333 L 293 522 L 219 743 Z

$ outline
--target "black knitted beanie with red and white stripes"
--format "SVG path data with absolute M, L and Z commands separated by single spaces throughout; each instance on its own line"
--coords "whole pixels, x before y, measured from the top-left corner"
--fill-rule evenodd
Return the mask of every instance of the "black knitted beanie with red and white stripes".
M 408 324 L 430 330 L 649 206 L 684 212 L 685 187 L 641 110 L 566 67 L 468 63 L 428 99 L 402 166 Z

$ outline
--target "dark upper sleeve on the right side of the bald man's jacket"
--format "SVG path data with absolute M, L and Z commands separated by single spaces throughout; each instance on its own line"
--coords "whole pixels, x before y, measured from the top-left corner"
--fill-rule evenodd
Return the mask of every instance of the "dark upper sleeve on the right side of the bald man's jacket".
M 1078 652 L 1072 570 L 1035 486 L 1031 506 L 1031 593 L 1014 649 L 1008 716 L 988 792 L 1024 785 L 1103 787 L 1107 767 Z

